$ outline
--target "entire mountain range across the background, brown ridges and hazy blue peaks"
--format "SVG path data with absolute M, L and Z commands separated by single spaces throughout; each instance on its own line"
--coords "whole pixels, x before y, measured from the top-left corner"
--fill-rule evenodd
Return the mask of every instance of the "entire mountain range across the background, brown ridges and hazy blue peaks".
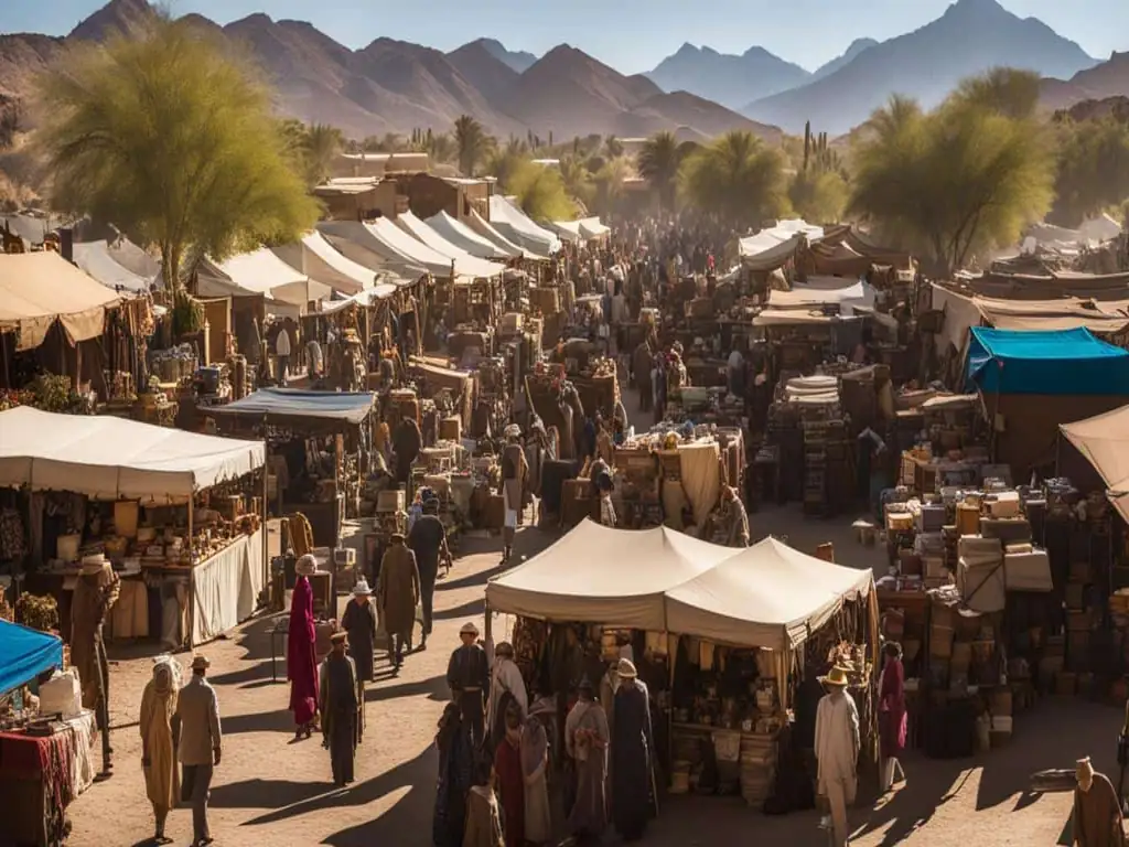
M 69 42 L 135 33 L 146 0 L 111 0 L 65 38 L 0 35 L 0 97 L 30 99 L 35 75 Z M 561 44 L 541 56 L 493 38 L 439 50 L 380 37 L 360 50 L 313 25 L 252 15 L 226 26 L 184 20 L 240 45 L 262 67 L 280 114 L 339 126 L 351 138 L 447 131 L 462 114 L 501 137 L 558 140 L 676 130 L 702 139 L 732 129 L 769 141 L 780 129 L 838 136 L 894 94 L 936 105 L 964 77 L 1008 66 L 1039 72 L 1048 108 L 1129 95 L 1129 53 L 1099 63 L 1077 44 L 996 0 L 956 0 L 936 20 L 885 42 L 859 38 L 813 72 L 753 46 L 741 55 L 684 44 L 645 75 L 628 76 Z

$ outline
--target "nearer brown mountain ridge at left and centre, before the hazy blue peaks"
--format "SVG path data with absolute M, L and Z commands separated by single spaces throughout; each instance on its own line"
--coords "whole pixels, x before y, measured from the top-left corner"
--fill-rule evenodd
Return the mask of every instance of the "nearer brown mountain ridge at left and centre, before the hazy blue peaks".
M 34 76 L 68 42 L 138 33 L 154 15 L 146 0 L 111 0 L 65 38 L 0 36 L 0 95 L 30 98 Z M 646 77 L 624 76 L 564 44 L 540 59 L 488 38 L 450 53 L 384 37 L 350 50 L 310 24 L 262 14 L 222 27 L 199 15 L 186 20 L 239 45 L 271 82 L 280 114 L 332 124 L 357 139 L 417 128 L 445 132 L 463 114 L 501 137 L 677 130 L 700 140 L 742 129 L 777 141 L 781 134 L 702 97 L 664 93 Z

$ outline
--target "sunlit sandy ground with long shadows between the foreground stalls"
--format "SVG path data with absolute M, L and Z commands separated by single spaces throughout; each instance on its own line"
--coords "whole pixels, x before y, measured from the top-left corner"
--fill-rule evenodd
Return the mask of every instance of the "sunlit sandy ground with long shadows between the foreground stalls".
M 808 551 L 833 541 L 838 560 L 855 567 L 872 567 L 879 558 L 874 549 L 855 543 L 849 521 L 805 521 L 791 509 L 755 513 L 751 518 L 756 538 L 786 534 L 790 543 Z M 532 555 L 551 541 L 539 531 L 523 531 L 517 553 Z M 287 686 L 271 680 L 268 632 L 274 618 L 253 620 L 205 648 L 225 733 L 210 812 L 217 845 L 431 844 L 437 768 L 431 740 L 447 698 L 447 657 L 464 621 L 483 623 L 483 585 L 499 570 L 497 551 L 496 540 L 467 541 L 464 558 L 438 586 L 429 649 L 410 656 L 397 678 L 388 675 L 386 663 L 379 664 L 380 676 L 367 697 L 369 730 L 358 751 L 357 783 L 348 789 L 332 787 L 329 754 L 316 736 L 292 740 Z M 111 672 L 115 774 L 71 806 L 73 847 L 141 845 L 152 831 L 137 730 L 150 660 L 132 648 L 114 649 L 112 657 L 117 660 Z M 281 662 L 279 673 L 285 680 Z M 1051 699 L 1016 721 L 1010 745 L 981 758 L 934 761 L 908 756 L 908 785 L 852 813 L 858 833 L 852 844 L 1054 844 L 1069 813 L 1070 795 L 1032 796 L 1026 792 L 1029 775 L 1070 767 L 1089 754 L 1115 781 L 1120 723 L 1115 708 Z M 191 831 L 190 812 L 174 812 L 168 833 L 176 844 L 187 844 Z M 645 840 L 656 847 L 750 842 L 815 847 L 825 840 L 812 812 L 770 818 L 744 807 L 739 800 L 704 797 L 664 802 L 663 814 Z

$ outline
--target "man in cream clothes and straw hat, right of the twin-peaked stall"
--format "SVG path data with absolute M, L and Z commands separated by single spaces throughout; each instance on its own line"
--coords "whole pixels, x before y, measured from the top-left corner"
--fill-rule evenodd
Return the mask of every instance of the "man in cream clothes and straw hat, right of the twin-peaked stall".
M 847 693 L 847 669 L 835 665 L 820 682 L 828 693 L 815 710 L 819 792 L 831 806 L 834 847 L 846 847 L 850 830 L 847 806 L 858 788 L 858 709 Z

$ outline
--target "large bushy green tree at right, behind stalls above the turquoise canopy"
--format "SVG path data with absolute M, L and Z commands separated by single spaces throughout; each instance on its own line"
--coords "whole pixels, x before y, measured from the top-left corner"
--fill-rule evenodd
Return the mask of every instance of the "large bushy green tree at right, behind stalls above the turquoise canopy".
M 1053 193 L 1052 145 L 1033 116 L 1029 84 L 1023 71 L 991 71 L 928 114 L 893 97 L 855 150 L 848 211 L 942 273 L 1015 243 Z

